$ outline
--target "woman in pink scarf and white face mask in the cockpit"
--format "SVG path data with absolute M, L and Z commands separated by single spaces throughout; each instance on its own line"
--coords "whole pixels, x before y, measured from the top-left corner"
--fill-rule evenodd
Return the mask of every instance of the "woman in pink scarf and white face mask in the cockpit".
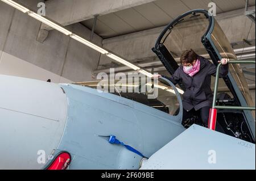
M 228 74 L 228 59 L 222 58 L 220 77 Z M 211 76 L 216 75 L 216 66 L 209 60 L 197 55 L 192 49 L 181 54 L 181 65 L 172 77 L 155 75 L 169 79 L 174 85 L 182 83 L 185 87 L 183 94 L 183 123 L 193 113 L 199 113 L 204 127 L 208 126 L 209 109 L 212 105 L 213 94 L 210 89 Z

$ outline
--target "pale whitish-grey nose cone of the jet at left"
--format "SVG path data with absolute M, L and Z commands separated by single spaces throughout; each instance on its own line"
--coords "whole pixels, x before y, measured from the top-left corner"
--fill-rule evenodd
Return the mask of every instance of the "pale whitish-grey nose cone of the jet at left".
M 67 104 L 55 83 L 0 75 L 0 169 L 42 169 L 59 145 Z

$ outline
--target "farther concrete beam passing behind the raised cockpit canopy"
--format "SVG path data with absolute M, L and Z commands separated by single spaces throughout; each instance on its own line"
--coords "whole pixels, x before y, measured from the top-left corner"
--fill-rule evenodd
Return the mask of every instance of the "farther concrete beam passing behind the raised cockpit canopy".
M 254 9 L 255 6 L 250 7 Z M 245 16 L 245 10 L 235 10 L 218 14 L 216 17 L 222 30 L 225 32 L 230 43 L 241 42 L 243 39 L 255 40 L 255 24 Z M 102 41 L 103 46 L 112 52 L 126 58 L 126 60 L 136 62 L 138 60 L 159 61 L 151 48 L 162 32 L 164 27 L 158 27 L 151 30 L 130 33 L 117 36 Z M 250 30 L 250 32 L 249 32 Z M 155 58 L 155 60 L 154 60 Z M 101 56 L 98 69 L 108 68 L 112 60 L 106 56 Z

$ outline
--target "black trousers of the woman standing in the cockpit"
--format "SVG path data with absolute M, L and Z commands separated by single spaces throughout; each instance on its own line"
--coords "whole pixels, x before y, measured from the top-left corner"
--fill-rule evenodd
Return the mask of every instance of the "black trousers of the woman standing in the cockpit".
M 183 122 L 192 116 L 199 116 L 202 120 L 204 127 L 208 127 L 210 107 L 203 107 L 200 110 L 195 110 L 194 108 L 190 111 L 183 110 Z

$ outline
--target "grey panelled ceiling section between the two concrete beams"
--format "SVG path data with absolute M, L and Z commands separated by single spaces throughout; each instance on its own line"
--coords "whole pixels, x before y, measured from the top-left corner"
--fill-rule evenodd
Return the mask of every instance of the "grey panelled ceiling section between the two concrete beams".
M 217 14 L 245 7 L 245 0 L 157 0 L 129 9 L 98 16 L 95 33 L 104 39 L 127 33 L 165 26 L 180 14 L 193 9 L 209 9 L 208 3 L 217 5 Z M 249 6 L 255 1 L 250 0 Z M 93 19 L 81 22 L 92 30 Z

